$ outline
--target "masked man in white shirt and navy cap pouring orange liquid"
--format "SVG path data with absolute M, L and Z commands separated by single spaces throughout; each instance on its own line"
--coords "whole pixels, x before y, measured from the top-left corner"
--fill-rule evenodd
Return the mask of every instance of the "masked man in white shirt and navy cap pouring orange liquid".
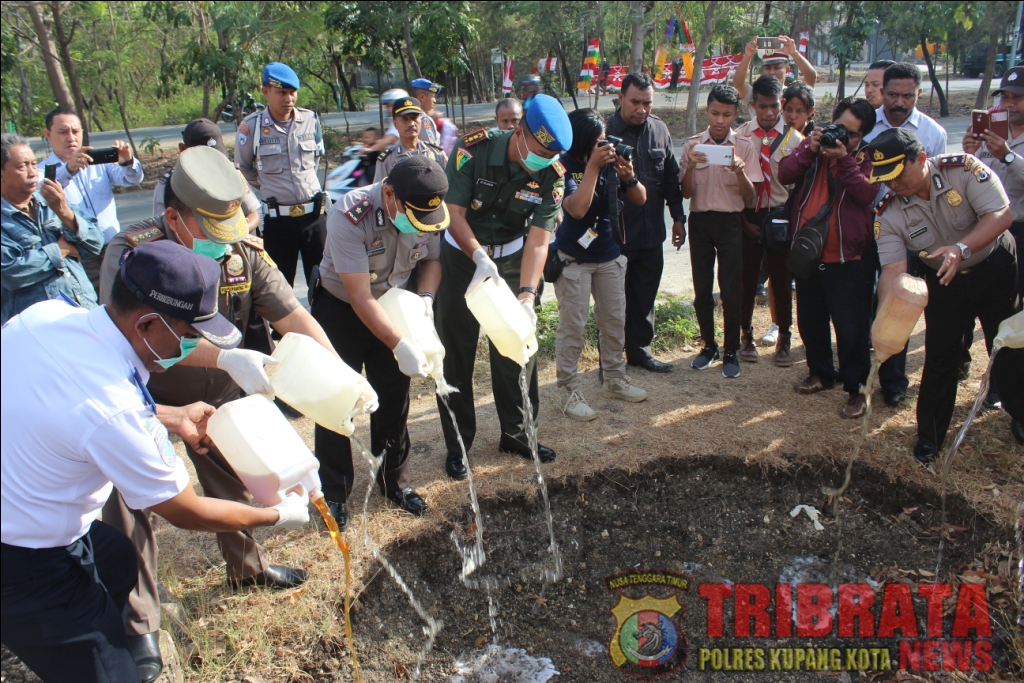
M 113 486 L 182 528 L 309 520 L 308 499 L 294 495 L 273 508 L 198 497 L 168 432 L 205 450 L 213 408 L 159 405 L 145 388 L 199 339 L 223 349 L 242 340 L 217 312 L 220 270 L 170 241 L 142 245 L 121 264 L 105 306 L 45 301 L 0 333 L 0 621 L 4 645 L 45 681 L 159 675 L 137 667 L 125 638 L 138 571 L 131 542 L 105 514 L 98 521 Z

